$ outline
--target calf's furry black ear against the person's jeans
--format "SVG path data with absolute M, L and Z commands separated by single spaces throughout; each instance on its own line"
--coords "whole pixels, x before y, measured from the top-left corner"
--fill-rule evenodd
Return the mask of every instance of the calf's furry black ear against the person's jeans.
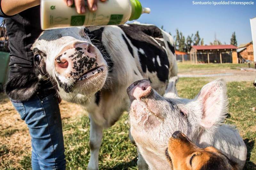
M 12 100 L 26 101 L 33 96 L 39 86 L 35 73 L 20 73 L 11 77 L 5 84 L 5 93 Z

